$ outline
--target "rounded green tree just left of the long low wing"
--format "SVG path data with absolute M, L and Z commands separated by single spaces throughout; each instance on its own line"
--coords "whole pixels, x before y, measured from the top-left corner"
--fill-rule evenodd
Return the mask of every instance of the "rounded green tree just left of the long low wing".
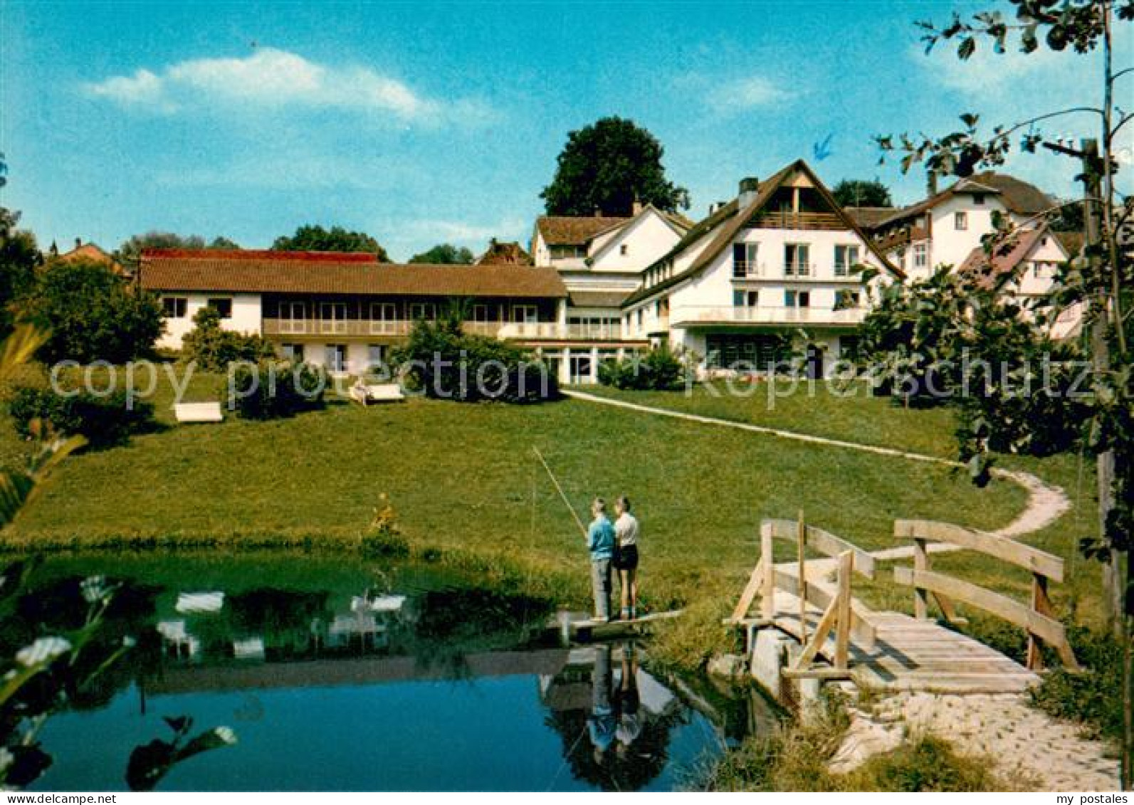
M 39 350 L 44 362 L 113 364 L 149 355 L 163 317 L 154 295 L 93 260 L 48 263 L 27 298 L 26 315 L 51 331 Z

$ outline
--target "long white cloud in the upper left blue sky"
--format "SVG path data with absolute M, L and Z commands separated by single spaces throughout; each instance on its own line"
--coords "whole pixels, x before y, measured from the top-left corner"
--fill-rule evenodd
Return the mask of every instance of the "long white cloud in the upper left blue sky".
M 346 109 L 392 115 L 403 121 L 438 120 L 446 110 L 483 118 L 475 101 L 447 107 L 370 67 L 331 67 L 276 48 L 242 58 L 189 59 L 159 73 L 139 69 L 86 84 L 87 93 L 124 107 L 159 112 L 223 104 L 237 108 Z

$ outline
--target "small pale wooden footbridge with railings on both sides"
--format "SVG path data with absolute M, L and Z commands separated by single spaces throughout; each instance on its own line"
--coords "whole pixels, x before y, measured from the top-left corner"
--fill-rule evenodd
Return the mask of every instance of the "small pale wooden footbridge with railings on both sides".
M 797 520 L 769 519 L 760 528 L 760 558 L 741 600 L 726 620 L 744 626 L 748 651 L 761 629 L 794 637 L 799 651 L 780 675 L 788 679 L 849 679 L 880 690 L 1014 693 L 1039 680 L 1041 644 L 1077 670 L 1063 624 L 1052 616 L 1049 582 L 1061 582 L 1063 560 L 1019 542 L 947 523 L 897 520 L 894 535 L 912 542 L 911 567 L 895 567 L 892 582 L 914 594 L 913 617 L 870 610 L 855 599 L 855 576 L 877 579 L 877 560 L 846 540 Z M 795 548 L 777 564 L 777 541 Z M 1023 603 L 960 578 L 936 573 L 930 557 L 972 550 L 1026 568 L 1031 601 Z M 820 558 L 815 558 L 819 554 Z M 751 615 L 760 599 L 759 611 Z M 930 600 L 941 621 L 929 618 Z M 945 624 L 964 625 L 957 604 L 990 612 L 1024 629 L 1027 661 L 1021 664 Z

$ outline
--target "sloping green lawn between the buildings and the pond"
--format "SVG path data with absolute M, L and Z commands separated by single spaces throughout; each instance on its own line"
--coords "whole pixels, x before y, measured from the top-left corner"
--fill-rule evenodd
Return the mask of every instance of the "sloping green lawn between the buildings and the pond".
M 201 395 L 215 381 L 198 379 Z M 680 395 L 634 399 L 697 402 Z M 169 400 L 168 390 L 155 396 L 163 416 Z M 951 431 L 941 412 L 903 412 L 881 400 L 823 396 L 793 405 L 779 409 L 786 418 L 778 424 L 811 422 L 824 435 L 871 441 L 870 434 L 879 443 L 938 444 L 945 452 Z M 810 420 L 804 406 L 814 410 Z M 572 579 L 564 594 L 578 599 L 586 588 L 582 537 L 535 465 L 533 446 L 578 511 L 594 494 L 635 500 L 643 586 L 657 604 L 735 598 L 763 517 L 802 508 L 816 525 L 882 548 L 892 543 L 896 517 L 990 528 L 1010 520 L 1025 499 L 1014 485 L 974 489 L 945 467 L 583 401 L 506 407 L 414 399 L 366 409 L 336 402 L 277 422 L 174 426 L 75 456 L 6 539 L 19 549 L 290 541 L 341 550 L 388 493 L 418 549 L 559 575 Z

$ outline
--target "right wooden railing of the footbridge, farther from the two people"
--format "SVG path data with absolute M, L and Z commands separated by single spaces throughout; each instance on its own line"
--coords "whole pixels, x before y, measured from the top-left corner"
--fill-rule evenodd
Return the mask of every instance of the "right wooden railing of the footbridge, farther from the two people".
M 1064 561 L 1039 549 L 1021 542 L 995 536 L 985 532 L 963 528 L 950 523 L 932 520 L 896 520 L 894 535 L 914 542 L 914 566 L 895 567 L 894 581 L 914 588 L 914 616 L 929 617 L 929 598 L 937 601 L 941 613 L 950 621 L 959 621 L 954 601 L 976 607 L 1027 632 L 1027 668 L 1043 667 L 1040 642 L 1047 643 L 1059 654 L 1068 670 L 1078 670 L 1075 653 L 1067 642 L 1064 625 L 1053 617 L 1051 599 L 1048 596 L 1049 582 L 1063 582 Z M 985 587 L 953 576 L 934 573 L 930 568 L 929 544 L 946 542 L 979 551 L 1002 561 L 1016 565 L 1032 574 L 1030 604 L 1010 599 Z

